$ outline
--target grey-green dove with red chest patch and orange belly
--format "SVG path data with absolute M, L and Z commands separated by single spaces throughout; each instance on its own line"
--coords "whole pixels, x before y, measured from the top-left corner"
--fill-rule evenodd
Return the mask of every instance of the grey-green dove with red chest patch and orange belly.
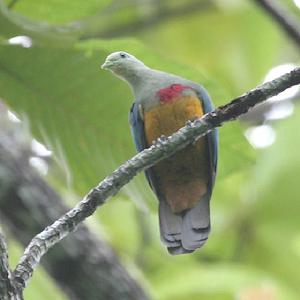
M 151 69 L 125 51 L 111 53 L 101 67 L 132 90 L 129 122 L 139 152 L 214 109 L 200 84 Z M 160 238 L 171 255 L 192 253 L 208 239 L 217 160 L 218 131 L 213 129 L 145 171 L 158 198 Z

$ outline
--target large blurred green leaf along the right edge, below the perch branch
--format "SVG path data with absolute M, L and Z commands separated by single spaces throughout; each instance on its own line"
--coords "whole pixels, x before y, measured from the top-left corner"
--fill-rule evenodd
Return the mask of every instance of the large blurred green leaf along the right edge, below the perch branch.
M 281 276 L 300 292 L 300 107 L 294 115 L 281 121 L 276 141 L 258 160 L 243 208 L 253 227 L 253 236 L 246 239 L 245 258 L 252 264 Z M 251 251 L 248 248 L 252 245 Z

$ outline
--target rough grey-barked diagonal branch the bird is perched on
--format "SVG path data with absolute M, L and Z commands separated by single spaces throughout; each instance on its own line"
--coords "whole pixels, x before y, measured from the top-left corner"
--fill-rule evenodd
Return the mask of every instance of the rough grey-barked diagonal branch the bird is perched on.
M 25 287 L 40 259 L 51 247 L 74 231 L 78 224 L 92 215 L 98 206 L 104 204 L 108 197 L 115 195 L 137 173 L 185 148 L 213 128 L 236 119 L 251 107 L 297 84 L 300 84 L 300 67 L 258 86 L 201 119 L 189 122 L 172 136 L 157 141 L 155 145 L 126 161 L 93 188 L 72 210 L 32 239 L 14 271 L 19 288 Z

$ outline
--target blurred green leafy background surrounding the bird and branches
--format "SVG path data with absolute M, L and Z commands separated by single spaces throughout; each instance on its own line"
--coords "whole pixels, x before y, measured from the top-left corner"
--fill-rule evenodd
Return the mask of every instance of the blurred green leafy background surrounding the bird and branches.
M 280 2 L 300 20 L 299 1 Z M 215 105 L 299 64 L 299 48 L 251 0 L 0 0 L 0 43 L 0 98 L 52 151 L 34 166 L 71 205 L 135 153 L 130 90 L 100 69 L 110 52 L 203 84 Z M 153 299 L 299 299 L 298 88 L 220 129 L 200 251 L 167 254 L 143 175 L 88 221 Z M 14 264 L 21 253 L 10 241 Z M 25 299 L 53 297 L 66 299 L 39 270 Z

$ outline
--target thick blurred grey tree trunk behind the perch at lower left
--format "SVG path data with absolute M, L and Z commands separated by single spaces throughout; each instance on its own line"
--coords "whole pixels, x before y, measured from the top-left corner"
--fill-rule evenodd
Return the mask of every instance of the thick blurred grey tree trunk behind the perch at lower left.
M 0 115 L 1 219 L 23 245 L 68 210 L 59 195 L 29 166 L 28 141 L 20 128 L 5 122 Z M 54 236 L 60 236 L 58 231 L 54 232 Z M 43 247 L 47 248 L 48 243 Z M 35 246 L 32 254 L 40 253 L 38 249 L 39 246 Z M 42 260 L 42 265 L 72 300 L 148 299 L 113 250 L 83 225 L 53 248 Z M 22 277 L 16 278 L 17 286 L 22 286 L 32 271 L 30 262 L 20 265 L 18 272 Z M 1 279 L 6 272 L 8 269 L 2 269 L 0 273 L 3 288 L 5 282 Z M 1 296 L 0 299 L 6 300 Z

